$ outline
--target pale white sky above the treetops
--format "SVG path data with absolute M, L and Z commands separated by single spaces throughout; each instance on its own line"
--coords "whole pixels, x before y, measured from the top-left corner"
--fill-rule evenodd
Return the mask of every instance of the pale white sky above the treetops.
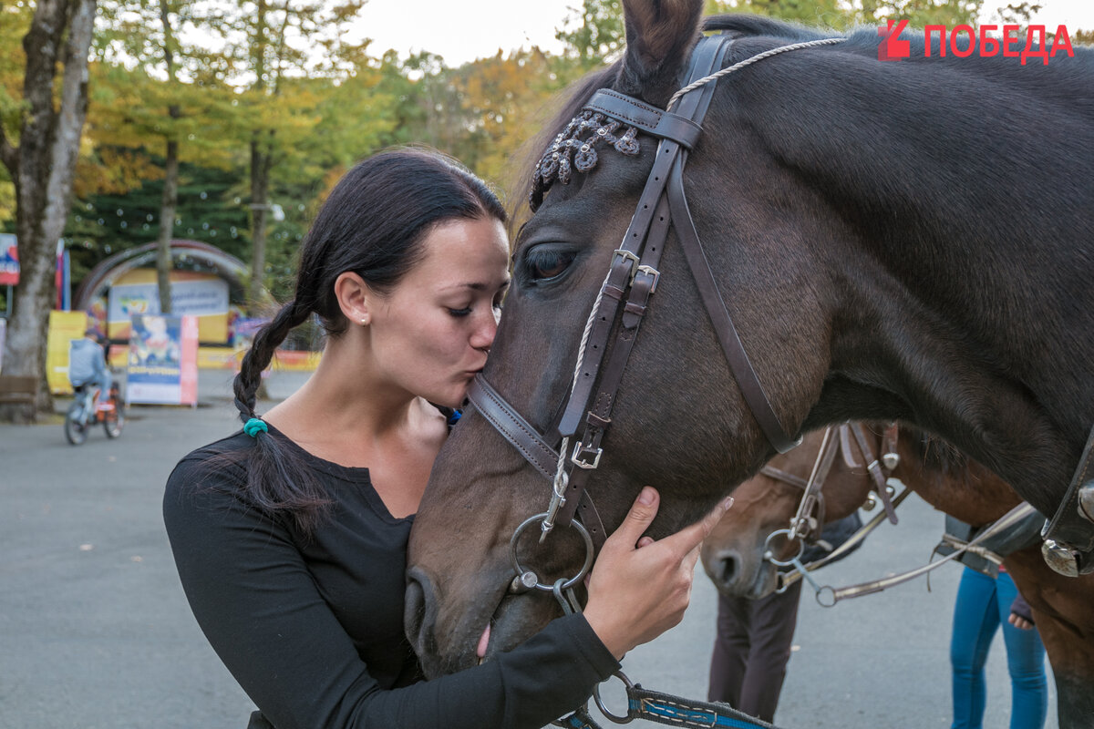
M 1049 32 L 1094 30 L 1094 0 L 1040 0 L 1032 24 Z M 555 30 L 573 14 L 580 0 L 369 0 L 361 11 L 361 35 L 373 39 L 372 55 L 394 48 L 400 56 L 429 50 L 449 66 L 516 48 L 557 51 Z M 986 0 L 991 14 L 1006 0 Z M 412 11 L 412 16 L 408 12 Z M 990 22 L 987 17 L 984 22 Z

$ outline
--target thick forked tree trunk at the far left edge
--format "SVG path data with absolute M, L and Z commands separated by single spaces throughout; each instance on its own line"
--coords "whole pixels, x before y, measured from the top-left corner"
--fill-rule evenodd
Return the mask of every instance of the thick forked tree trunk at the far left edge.
M 3 13 L 19 12 L 10 7 Z M 57 242 L 68 219 L 80 134 L 88 113 L 88 58 L 96 0 L 39 0 L 23 36 L 22 98 L 4 98 L 0 161 L 15 184 L 20 284 L 4 342 L 4 372 L 44 383 L 46 331 L 56 296 Z M 39 408 L 49 408 L 38 386 Z M 19 409 L 9 408 L 9 418 Z

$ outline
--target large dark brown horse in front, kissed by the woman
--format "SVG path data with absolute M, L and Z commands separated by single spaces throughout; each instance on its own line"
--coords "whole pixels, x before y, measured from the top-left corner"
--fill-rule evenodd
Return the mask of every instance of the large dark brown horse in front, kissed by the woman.
M 1068 492 L 1094 423 L 1094 54 L 885 62 L 873 32 L 738 15 L 699 43 L 702 4 L 625 0 L 624 57 L 545 130 L 410 537 L 427 675 L 558 615 L 551 580 L 580 583 L 643 484 L 657 539 L 828 423 L 913 423 L 1046 516 Z

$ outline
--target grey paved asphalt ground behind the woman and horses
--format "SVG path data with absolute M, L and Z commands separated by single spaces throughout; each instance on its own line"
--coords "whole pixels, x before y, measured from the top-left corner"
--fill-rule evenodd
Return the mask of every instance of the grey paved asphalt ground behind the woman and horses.
M 252 704 L 189 613 L 160 516 L 175 461 L 238 427 L 228 381 L 203 372 L 201 407 L 133 408 L 119 439 L 92 432 L 79 448 L 59 424 L 0 426 L 0 729 L 246 726 Z M 275 375 L 271 398 L 301 381 Z M 901 508 L 898 528 L 880 529 L 822 581 L 860 581 L 926 560 L 942 517 L 915 497 Z M 930 592 L 920 580 L 833 609 L 803 595 L 779 726 L 948 727 L 958 576 L 947 565 Z M 714 610 L 700 577 L 684 623 L 627 658 L 630 678 L 701 698 Z M 985 726 L 1004 727 L 1010 691 L 998 637 L 988 679 Z M 1047 726 L 1056 727 L 1055 692 L 1050 701 Z

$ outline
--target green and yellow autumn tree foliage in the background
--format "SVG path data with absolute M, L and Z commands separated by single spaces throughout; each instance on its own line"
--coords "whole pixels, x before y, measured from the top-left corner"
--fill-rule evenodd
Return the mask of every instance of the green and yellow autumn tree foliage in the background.
M 982 0 L 707 0 L 708 14 L 750 12 L 840 30 L 907 17 L 975 22 Z M 363 0 L 100 0 L 91 104 L 66 237 L 73 279 L 159 230 L 163 155 L 182 160 L 175 237 L 251 259 L 251 143 L 270 157 L 266 277 L 290 292 L 300 242 L 337 179 L 394 144 L 424 144 L 467 164 L 502 195 L 514 154 L 570 81 L 622 49 L 620 0 L 581 0 L 557 30 L 560 54 L 498 54 L 459 68 L 430 52 L 375 57 L 346 32 Z M 1028 21 L 1036 2 L 1001 9 Z M 32 5 L 0 7 L 0 124 L 22 115 L 22 37 Z M 163 23 L 166 13 L 167 24 Z M 1090 40 L 1074 33 L 1072 40 Z M 167 57 L 173 61 L 168 66 Z M 172 113 L 174 108 L 176 111 Z M 12 227 L 0 168 L 0 225 Z M 120 212 L 119 212 L 120 211 Z

